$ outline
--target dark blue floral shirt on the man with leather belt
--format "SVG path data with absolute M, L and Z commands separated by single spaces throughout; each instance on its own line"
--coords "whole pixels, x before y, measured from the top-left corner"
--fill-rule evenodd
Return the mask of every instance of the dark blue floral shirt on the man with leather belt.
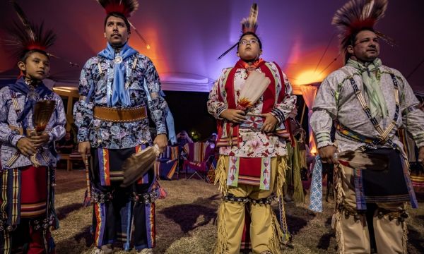
M 136 66 L 133 68 L 137 58 Z M 94 107 L 107 107 L 107 97 L 112 95 L 114 61 L 102 56 L 88 59 L 81 71 L 79 92 L 81 100 L 73 107 L 78 127 L 78 143 L 90 141 L 91 147 L 121 149 L 151 143 L 148 119 L 130 123 L 114 123 L 94 119 Z M 129 107 L 148 107 L 155 122 L 157 134 L 166 134 L 165 112 L 167 103 L 160 96 L 160 80 L 153 62 L 147 56 L 134 54 L 124 60 L 125 83 L 128 85 Z M 99 71 L 101 68 L 101 72 Z M 92 92 L 90 93 L 90 90 Z M 88 96 L 90 93 L 90 96 Z M 88 97 L 88 101 L 86 101 Z M 118 104 L 114 108 L 125 108 Z

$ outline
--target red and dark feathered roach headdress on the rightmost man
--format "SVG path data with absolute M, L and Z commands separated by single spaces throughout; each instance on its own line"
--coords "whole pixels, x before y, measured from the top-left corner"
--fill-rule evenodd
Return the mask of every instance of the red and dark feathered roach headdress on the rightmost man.
M 331 24 L 340 32 L 341 49 L 346 50 L 356 32 L 364 28 L 373 30 L 378 20 L 384 17 L 387 4 L 387 0 L 351 0 L 338 9 Z

